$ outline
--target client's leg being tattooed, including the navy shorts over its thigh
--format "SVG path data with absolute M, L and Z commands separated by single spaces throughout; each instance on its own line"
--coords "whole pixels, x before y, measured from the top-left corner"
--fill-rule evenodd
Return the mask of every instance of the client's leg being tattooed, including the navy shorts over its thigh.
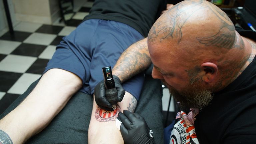
M 91 41 L 91 47 L 94 48 L 90 63 L 89 86 L 91 94 L 94 93 L 94 87 L 103 80 L 102 67 L 113 67 L 121 53 L 141 38 L 143 37 L 139 32 L 126 24 L 115 21 L 98 21 L 98 27 Z M 134 78 L 132 82 L 122 84 L 127 93 L 123 101 L 118 103 L 120 109 L 117 110 L 134 111 L 143 81 L 144 75 L 142 74 L 140 78 Z M 110 112 L 98 109 L 94 102 L 88 130 L 88 142 L 91 144 L 123 143 L 121 133 L 115 124 L 117 114 L 118 111 Z

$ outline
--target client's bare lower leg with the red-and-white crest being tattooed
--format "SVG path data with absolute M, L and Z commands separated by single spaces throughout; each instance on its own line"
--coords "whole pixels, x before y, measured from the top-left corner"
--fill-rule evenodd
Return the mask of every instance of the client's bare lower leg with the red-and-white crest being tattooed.
M 124 143 L 120 131 L 116 127 L 118 112 L 129 110 L 134 112 L 137 100 L 126 92 L 123 100 L 118 102 L 116 111 L 105 111 L 93 102 L 92 116 L 88 131 L 89 144 L 122 144 Z

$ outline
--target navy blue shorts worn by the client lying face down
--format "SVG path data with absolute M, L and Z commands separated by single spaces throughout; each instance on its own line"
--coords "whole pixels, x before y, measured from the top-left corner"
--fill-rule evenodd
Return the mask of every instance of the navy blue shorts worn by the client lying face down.
M 80 91 L 92 95 L 103 80 L 102 67 L 113 68 L 123 51 L 142 38 L 138 31 L 120 22 L 86 20 L 63 38 L 44 73 L 52 68 L 70 71 L 83 81 Z M 139 100 L 143 81 L 144 74 L 139 74 L 122 85 Z

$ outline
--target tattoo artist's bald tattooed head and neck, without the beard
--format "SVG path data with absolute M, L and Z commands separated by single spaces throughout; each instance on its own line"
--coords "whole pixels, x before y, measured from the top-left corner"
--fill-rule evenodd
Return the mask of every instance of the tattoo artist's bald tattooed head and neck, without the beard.
M 194 83 L 198 89 L 220 91 L 255 57 L 255 44 L 235 31 L 223 11 L 203 0 L 183 1 L 164 13 L 149 32 L 148 48 L 152 76 L 179 92 Z

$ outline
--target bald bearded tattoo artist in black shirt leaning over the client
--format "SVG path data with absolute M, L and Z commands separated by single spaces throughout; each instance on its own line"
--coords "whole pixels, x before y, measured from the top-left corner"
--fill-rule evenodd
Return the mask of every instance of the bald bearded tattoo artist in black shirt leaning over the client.
M 183 110 L 166 143 L 248 144 L 256 137 L 255 54 L 256 32 L 235 27 L 208 1 L 186 0 L 124 51 L 113 74 L 122 83 L 153 63 L 152 77 Z M 141 115 L 124 111 L 118 119 L 126 144 L 158 143 Z

